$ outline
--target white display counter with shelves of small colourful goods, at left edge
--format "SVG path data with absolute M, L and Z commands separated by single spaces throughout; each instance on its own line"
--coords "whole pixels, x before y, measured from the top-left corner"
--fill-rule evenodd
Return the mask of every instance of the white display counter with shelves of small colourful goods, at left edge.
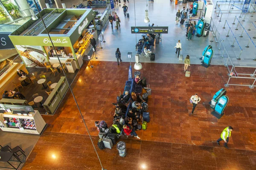
M 25 114 L 0 113 L 0 129 L 7 132 L 40 134 L 46 123 L 38 111 Z

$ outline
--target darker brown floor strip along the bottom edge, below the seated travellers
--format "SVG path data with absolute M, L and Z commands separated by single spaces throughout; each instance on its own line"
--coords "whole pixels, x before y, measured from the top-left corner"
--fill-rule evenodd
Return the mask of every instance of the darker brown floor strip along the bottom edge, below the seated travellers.
M 131 139 L 124 141 L 127 156 L 120 157 L 116 146 L 99 150 L 98 138 L 93 143 L 102 165 L 107 170 L 255 170 L 256 152 L 227 150 L 223 147 L 173 144 Z M 101 166 L 89 136 L 45 132 L 23 170 L 100 170 Z

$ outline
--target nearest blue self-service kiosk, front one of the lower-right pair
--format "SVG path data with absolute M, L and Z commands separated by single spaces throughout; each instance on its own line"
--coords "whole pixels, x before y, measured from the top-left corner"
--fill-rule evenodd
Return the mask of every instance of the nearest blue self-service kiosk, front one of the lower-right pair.
M 218 102 L 215 106 L 215 110 L 212 111 L 212 115 L 215 116 L 218 119 L 221 119 L 221 117 L 224 115 L 224 110 L 227 106 L 229 99 L 227 96 L 222 96 L 220 99 L 218 99 Z

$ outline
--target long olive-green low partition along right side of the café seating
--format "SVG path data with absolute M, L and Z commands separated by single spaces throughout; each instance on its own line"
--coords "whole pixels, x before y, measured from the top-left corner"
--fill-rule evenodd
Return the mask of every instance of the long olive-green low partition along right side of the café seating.
M 67 80 L 65 77 L 61 77 L 52 93 L 45 100 L 43 107 L 48 114 L 54 114 L 61 102 L 61 99 L 65 96 L 68 89 Z

